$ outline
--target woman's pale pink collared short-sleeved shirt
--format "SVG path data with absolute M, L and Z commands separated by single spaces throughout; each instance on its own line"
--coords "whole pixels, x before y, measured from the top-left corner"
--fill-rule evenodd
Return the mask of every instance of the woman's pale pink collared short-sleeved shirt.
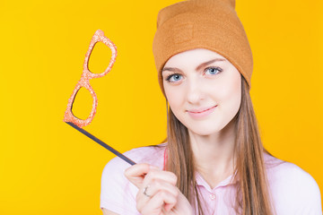
M 165 143 L 161 147 L 140 147 L 124 153 L 136 163 L 149 163 L 163 168 Z M 298 166 L 275 159 L 264 153 L 269 188 L 277 215 L 322 215 L 319 185 L 314 178 Z M 130 165 L 118 157 L 105 166 L 101 177 L 100 208 L 120 215 L 140 215 L 136 210 L 135 195 L 138 188 L 124 176 Z M 196 183 L 205 199 L 206 214 L 236 214 L 231 208 L 236 184 L 231 177 L 213 189 L 196 172 Z

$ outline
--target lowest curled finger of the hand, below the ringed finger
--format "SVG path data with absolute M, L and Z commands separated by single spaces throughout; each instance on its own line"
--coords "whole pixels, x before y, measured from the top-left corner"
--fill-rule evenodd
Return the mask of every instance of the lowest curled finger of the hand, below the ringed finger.
M 160 191 L 153 195 L 153 197 L 141 209 L 143 214 L 160 214 L 162 208 L 170 211 L 177 203 L 177 198 L 166 191 Z

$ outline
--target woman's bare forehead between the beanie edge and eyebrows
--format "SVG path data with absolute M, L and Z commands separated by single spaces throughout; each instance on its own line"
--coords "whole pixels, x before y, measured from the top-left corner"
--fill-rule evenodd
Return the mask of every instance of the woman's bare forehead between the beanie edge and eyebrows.
M 170 59 L 166 62 L 164 67 L 178 67 L 178 66 L 194 66 L 198 64 L 205 63 L 206 61 L 210 61 L 214 58 L 220 58 L 226 60 L 224 56 L 211 51 L 205 48 L 196 48 L 190 49 L 188 51 L 180 52 L 175 56 L 171 56 Z M 228 62 L 223 61 L 223 62 Z

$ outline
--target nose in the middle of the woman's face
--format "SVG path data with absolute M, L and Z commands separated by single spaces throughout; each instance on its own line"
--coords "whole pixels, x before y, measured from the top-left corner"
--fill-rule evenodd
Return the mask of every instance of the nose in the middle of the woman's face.
M 200 100 L 205 99 L 203 86 L 198 80 L 189 80 L 187 82 L 187 100 L 191 104 L 196 104 Z

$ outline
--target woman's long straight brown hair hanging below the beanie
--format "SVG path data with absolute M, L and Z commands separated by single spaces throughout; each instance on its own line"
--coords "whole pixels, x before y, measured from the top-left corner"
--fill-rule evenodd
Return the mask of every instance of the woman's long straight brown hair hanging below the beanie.
M 272 215 L 274 211 L 266 179 L 263 152 L 271 155 L 260 139 L 258 122 L 249 95 L 249 86 L 241 75 L 241 103 L 235 121 L 236 140 L 234 156 L 233 180 L 238 181 L 235 203 L 232 205 L 238 214 L 242 215 Z M 204 215 L 202 200 L 198 197 L 196 188 L 195 163 L 191 149 L 188 128 L 182 125 L 173 112 L 168 111 L 168 159 L 166 170 L 178 176 L 177 185 L 188 201 L 195 206 L 199 215 Z

